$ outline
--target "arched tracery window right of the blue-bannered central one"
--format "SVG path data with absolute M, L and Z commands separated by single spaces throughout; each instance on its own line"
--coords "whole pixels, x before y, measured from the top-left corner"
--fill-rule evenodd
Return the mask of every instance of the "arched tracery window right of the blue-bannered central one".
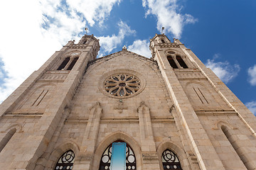
M 178 157 L 174 152 L 172 152 L 170 149 L 166 149 L 162 154 L 162 163 L 165 169 L 176 169 L 176 170 L 182 170 L 181 169 L 181 163 L 178 160 Z

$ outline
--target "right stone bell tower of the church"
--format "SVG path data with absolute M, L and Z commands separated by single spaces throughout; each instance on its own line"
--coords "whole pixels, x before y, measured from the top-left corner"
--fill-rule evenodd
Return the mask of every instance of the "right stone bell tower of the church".
M 255 116 L 178 39 L 155 35 L 150 50 L 201 169 L 255 169 Z

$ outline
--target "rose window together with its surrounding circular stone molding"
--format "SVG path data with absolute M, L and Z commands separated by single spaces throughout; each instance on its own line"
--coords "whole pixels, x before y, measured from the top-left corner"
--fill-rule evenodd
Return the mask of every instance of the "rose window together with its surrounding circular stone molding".
M 144 89 L 146 81 L 132 70 L 114 70 L 105 74 L 99 84 L 103 94 L 112 98 L 129 98 Z

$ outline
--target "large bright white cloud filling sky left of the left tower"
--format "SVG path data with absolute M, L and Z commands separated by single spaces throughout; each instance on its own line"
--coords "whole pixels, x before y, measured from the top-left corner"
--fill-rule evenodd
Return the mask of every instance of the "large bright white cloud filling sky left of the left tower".
M 63 2 L 0 1 L 0 103 L 55 50 L 68 40 L 79 40 L 86 23 L 102 23 L 120 0 Z

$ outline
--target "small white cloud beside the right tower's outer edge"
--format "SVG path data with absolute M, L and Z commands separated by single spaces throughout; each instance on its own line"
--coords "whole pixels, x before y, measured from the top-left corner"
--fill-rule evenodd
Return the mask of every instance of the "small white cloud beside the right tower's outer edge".
M 240 72 L 240 66 L 238 64 L 230 64 L 229 62 L 215 62 L 218 55 L 214 55 L 213 60 L 207 60 L 206 67 L 213 70 L 213 72 L 225 83 L 235 79 Z

